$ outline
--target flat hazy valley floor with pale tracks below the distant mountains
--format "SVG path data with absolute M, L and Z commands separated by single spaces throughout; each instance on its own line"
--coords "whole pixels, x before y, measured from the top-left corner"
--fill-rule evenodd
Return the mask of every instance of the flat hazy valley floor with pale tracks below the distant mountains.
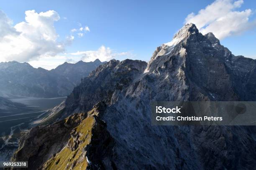
M 12 102 L 25 104 L 26 109 L 15 113 L 10 112 L 8 115 L 0 113 L 0 161 L 10 160 L 10 157 L 18 148 L 20 136 L 31 128 L 31 122 L 44 117 L 46 110 L 58 105 L 65 99 L 66 97 L 19 97 L 10 99 Z

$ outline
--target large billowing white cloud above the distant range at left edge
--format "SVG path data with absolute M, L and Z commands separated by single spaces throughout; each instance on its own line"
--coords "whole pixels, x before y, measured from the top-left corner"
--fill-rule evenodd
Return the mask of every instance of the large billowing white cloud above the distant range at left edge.
M 57 41 L 58 34 L 54 22 L 60 19 L 54 10 L 36 13 L 35 10 L 25 12 L 25 21 L 14 27 L 10 19 L 0 12 L 0 53 L 2 61 L 16 60 L 25 62 L 37 57 L 54 56 L 64 51 L 66 43 Z

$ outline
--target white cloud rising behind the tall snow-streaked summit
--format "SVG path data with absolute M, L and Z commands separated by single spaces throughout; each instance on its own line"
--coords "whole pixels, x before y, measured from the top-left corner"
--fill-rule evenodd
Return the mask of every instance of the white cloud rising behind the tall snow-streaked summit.
M 219 39 L 256 28 L 256 21 L 249 21 L 251 9 L 239 11 L 243 0 L 215 0 L 197 14 L 190 13 L 185 23 L 194 23 L 202 34 L 213 32 Z

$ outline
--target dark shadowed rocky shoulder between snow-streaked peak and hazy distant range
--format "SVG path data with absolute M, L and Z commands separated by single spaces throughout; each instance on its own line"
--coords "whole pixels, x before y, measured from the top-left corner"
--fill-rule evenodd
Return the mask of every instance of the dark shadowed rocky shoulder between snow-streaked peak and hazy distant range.
M 133 84 L 133 79 L 143 73 L 146 62 L 140 60 L 111 60 L 100 65 L 75 87 L 66 101 L 67 112 L 89 110 L 95 101 L 111 103 L 116 90 L 123 90 Z

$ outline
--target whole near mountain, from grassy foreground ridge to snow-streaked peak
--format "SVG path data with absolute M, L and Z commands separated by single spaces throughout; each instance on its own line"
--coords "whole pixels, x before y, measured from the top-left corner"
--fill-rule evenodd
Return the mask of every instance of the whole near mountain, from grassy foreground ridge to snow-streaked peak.
M 150 103 L 256 101 L 255 87 L 256 60 L 187 24 L 148 63 L 110 60 L 84 77 L 49 115 L 60 121 L 32 128 L 12 160 L 31 170 L 252 170 L 255 126 L 152 126 Z

